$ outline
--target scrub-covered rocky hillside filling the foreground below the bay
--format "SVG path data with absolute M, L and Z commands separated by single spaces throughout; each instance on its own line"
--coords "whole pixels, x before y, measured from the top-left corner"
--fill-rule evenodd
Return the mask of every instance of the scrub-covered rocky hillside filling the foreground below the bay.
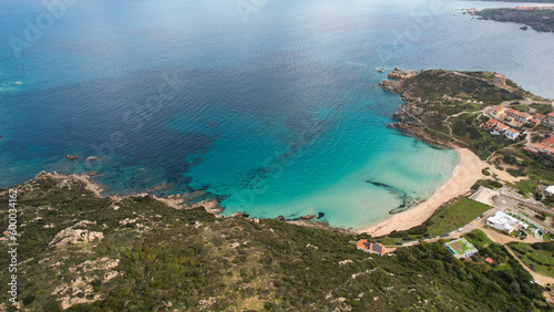
M 379 257 L 357 250 L 351 233 L 216 218 L 148 196 L 99 198 L 70 177 L 41 175 L 18 189 L 28 311 L 552 310 L 501 246 L 483 250 L 500 269 L 454 259 L 441 242 Z M 2 280 L 7 264 L 0 258 Z M 13 310 L 6 283 L 0 298 L 0 310 Z

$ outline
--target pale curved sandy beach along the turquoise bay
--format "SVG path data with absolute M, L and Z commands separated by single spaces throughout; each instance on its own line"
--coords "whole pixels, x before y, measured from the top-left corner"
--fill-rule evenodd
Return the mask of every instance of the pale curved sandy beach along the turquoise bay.
M 393 230 L 407 230 L 423 223 L 444 201 L 468 193 L 471 187 L 485 176 L 482 169 L 489 165 L 466 148 L 459 148 L 460 164 L 454 168 L 452 177 L 439 187 L 431 197 L 414 207 L 392 215 L 389 218 L 371 225 L 359 232 L 373 237 L 388 235 Z

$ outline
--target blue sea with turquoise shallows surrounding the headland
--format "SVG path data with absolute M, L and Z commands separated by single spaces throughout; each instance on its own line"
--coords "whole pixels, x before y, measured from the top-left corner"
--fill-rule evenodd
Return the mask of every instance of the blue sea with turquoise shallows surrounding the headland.
M 0 0 L 0 187 L 98 170 L 111 193 L 165 181 L 225 214 L 360 228 L 458 162 L 386 127 L 401 101 L 373 67 L 491 70 L 554 97 L 553 34 L 458 10 L 501 4 L 81 0 L 32 37 L 48 8 Z

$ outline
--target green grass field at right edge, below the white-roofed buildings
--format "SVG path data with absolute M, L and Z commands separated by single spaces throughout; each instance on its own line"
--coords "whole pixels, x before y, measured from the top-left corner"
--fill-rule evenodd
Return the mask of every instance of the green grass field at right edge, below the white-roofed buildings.
M 534 249 L 531 245 L 512 241 L 507 246 L 531 270 L 554 278 L 554 251 Z

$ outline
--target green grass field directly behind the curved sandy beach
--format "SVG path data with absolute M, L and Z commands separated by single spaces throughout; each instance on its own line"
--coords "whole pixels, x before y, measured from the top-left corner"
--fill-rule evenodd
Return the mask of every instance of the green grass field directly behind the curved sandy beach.
M 433 223 L 429 227 L 429 233 L 439 236 L 453 231 L 468 225 L 489 209 L 490 207 L 484 204 L 466 197 L 459 197 L 452 204 L 447 204 L 433 214 L 430 218 Z

